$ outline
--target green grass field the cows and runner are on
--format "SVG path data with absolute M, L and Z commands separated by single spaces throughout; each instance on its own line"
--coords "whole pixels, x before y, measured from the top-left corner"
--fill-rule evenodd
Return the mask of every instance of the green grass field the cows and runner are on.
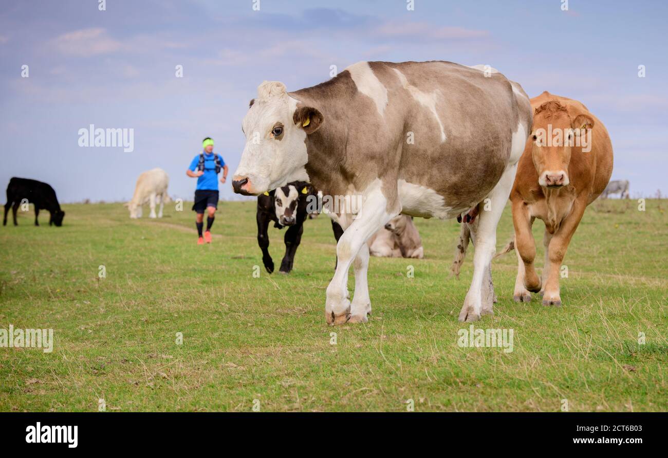
M 457 344 L 473 250 L 455 279 L 456 221 L 416 219 L 426 258 L 371 258 L 369 323 L 332 328 L 327 217 L 305 223 L 293 273 L 269 275 L 255 203 L 221 203 L 208 246 L 184 208 L 130 220 L 120 204 L 65 205 L 63 227 L 47 212 L 34 227 L 29 211 L 0 228 L 0 328 L 55 340 L 51 353 L 0 348 L 1 411 L 98 411 L 100 398 L 106 411 L 668 410 L 666 201 L 589 207 L 561 308 L 514 303 L 516 256 L 496 259 L 495 315 L 475 326 L 514 330 L 509 353 Z M 277 269 L 283 233 L 270 229 Z M 506 207 L 498 248 L 511 233 Z

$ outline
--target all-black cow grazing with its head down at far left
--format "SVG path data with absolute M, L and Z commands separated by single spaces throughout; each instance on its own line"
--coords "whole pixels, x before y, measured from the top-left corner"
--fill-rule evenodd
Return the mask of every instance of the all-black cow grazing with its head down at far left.
M 47 185 L 47 183 L 42 183 L 37 180 L 13 177 L 9 180 L 9 185 L 7 186 L 7 203 L 5 203 L 5 219 L 3 219 L 3 226 L 7 225 L 7 212 L 12 203 L 14 204 L 12 209 L 14 225 L 19 225 L 16 221 L 16 211 L 19 209 L 19 205 L 21 205 L 21 201 L 24 199 L 27 203 L 31 203 L 35 206 L 35 226 L 39 226 L 37 217 L 39 216 L 40 209 L 48 210 L 51 213 L 49 226 L 52 224 L 61 226 L 63 224 L 65 212 L 60 209 L 60 204 L 55 197 L 55 191 L 53 191 L 51 185 Z

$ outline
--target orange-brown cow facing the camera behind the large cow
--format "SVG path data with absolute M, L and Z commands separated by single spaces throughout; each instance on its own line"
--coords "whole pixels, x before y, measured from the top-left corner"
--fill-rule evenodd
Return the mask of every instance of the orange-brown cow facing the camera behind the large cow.
M 544 306 L 560 306 L 561 262 L 585 208 L 610 180 L 613 146 L 603 123 L 577 100 L 543 92 L 531 99 L 531 107 L 533 129 L 510 193 L 518 255 L 513 297 L 528 302 L 530 292 L 540 292 Z M 534 269 L 536 218 L 545 223 L 542 277 Z

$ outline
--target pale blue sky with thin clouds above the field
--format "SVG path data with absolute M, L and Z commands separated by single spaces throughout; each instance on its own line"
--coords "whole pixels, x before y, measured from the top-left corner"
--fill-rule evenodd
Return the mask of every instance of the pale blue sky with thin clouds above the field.
M 171 195 L 192 199 L 185 170 L 204 136 L 236 168 L 258 84 L 297 90 L 360 60 L 489 64 L 530 96 L 576 98 L 611 134 L 613 179 L 629 179 L 632 196 L 668 192 L 668 2 L 570 0 L 567 12 L 561 0 L 415 0 L 415 11 L 405 0 L 106 3 L 0 5 L 0 201 L 13 176 L 46 181 L 65 202 L 129 199 L 155 166 Z M 79 148 L 89 124 L 134 128 L 134 152 Z M 221 191 L 233 195 L 229 182 Z

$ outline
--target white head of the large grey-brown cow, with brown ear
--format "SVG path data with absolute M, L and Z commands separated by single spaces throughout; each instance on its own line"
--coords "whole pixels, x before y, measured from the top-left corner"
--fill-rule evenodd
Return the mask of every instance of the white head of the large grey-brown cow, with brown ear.
M 235 193 L 259 195 L 303 179 L 308 161 L 306 136 L 320 126 L 322 114 L 298 106 L 280 82 L 264 82 L 242 122 L 246 145 L 234 176 Z

